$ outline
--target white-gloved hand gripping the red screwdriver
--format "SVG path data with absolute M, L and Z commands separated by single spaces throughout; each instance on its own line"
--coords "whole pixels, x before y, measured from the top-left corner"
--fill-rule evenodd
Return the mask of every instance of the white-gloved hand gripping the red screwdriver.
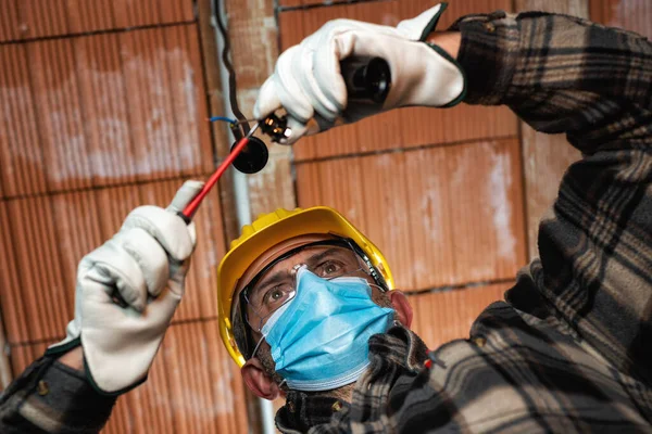
M 82 345 L 86 374 L 100 393 L 121 394 L 147 379 L 184 295 L 196 244 L 195 224 L 176 213 L 202 186 L 184 183 L 167 209 L 134 209 L 111 240 L 79 263 L 75 318 L 66 339 L 46 354 Z

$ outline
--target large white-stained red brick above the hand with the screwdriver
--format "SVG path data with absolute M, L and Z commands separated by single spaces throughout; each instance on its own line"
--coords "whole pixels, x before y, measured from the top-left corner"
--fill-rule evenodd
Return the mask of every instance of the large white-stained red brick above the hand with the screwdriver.
M 196 26 L 3 46 L 5 196 L 213 169 Z M 10 65 L 11 63 L 5 63 Z M 16 66 L 20 67 L 20 66 Z M 23 74 L 24 75 L 24 74 Z M 43 162 L 47 162 L 46 165 Z M 7 175 L 5 175 L 7 174 Z

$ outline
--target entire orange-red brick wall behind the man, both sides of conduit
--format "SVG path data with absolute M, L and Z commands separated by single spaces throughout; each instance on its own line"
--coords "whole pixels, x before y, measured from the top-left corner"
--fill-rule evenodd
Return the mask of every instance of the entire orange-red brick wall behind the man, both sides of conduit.
M 327 20 L 394 25 L 435 4 L 227 0 L 239 99 L 251 114 L 278 52 Z M 201 2 L 200 10 L 206 10 Z M 311 8 L 303 8 L 311 5 Z M 0 308 L 13 371 L 63 337 L 79 258 L 139 204 L 165 205 L 227 148 L 203 124 L 215 64 L 190 0 L 9 0 L 0 5 Z M 586 15 L 650 35 L 647 0 L 452 0 L 440 27 L 496 9 Z M 274 25 L 277 12 L 278 29 Z M 276 41 L 279 46 L 276 46 Z M 210 37 L 208 38 L 210 39 Z M 203 41 L 206 41 L 204 37 Z M 205 79 L 211 71 L 210 79 Z M 221 114 L 221 113 L 212 113 Z M 505 108 L 405 108 L 272 146 L 248 177 L 252 214 L 330 205 L 386 253 L 430 347 L 466 337 L 536 255 L 538 218 L 577 158 Z M 292 173 L 296 179 L 292 181 Z M 223 196 L 224 197 L 224 196 Z M 229 206 L 197 215 L 187 295 L 148 383 L 121 398 L 106 432 L 242 433 L 238 370 L 216 331 L 215 266 Z

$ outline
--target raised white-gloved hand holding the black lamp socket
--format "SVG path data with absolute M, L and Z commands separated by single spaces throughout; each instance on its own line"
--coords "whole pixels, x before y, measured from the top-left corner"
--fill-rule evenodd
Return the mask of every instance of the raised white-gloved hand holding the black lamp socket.
M 287 144 L 336 125 L 394 107 L 451 106 L 464 97 L 460 65 L 441 48 L 424 42 L 447 4 L 438 4 L 394 27 L 335 20 L 286 50 L 261 88 L 253 114 L 264 119 L 278 108 L 288 113 Z M 347 106 L 340 61 L 383 58 L 390 66 L 391 90 L 383 106 Z

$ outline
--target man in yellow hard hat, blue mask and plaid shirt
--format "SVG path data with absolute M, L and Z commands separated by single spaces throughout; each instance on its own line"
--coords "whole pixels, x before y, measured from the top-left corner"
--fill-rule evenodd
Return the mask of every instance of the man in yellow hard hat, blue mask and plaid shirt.
M 293 142 L 338 118 L 464 100 L 506 104 L 539 130 L 566 132 L 584 158 L 541 221 L 540 259 L 485 309 L 469 340 L 429 352 L 369 240 L 329 208 L 278 210 L 243 228 L 221 264 L 225 345 L 253 393 L 286 396 L 276 423 L 287 433 L 650 432 L 652 46 L 538 12 L 471 15 L 437 33 L 442 10 L 397 28 L 326 24 L 279 58 L 256 116 L 284 107 Z M 390 64 L 383 107 L 347 106 L 338 65 L 349 56 Z M 183 293 L 195 240 L 172 213 L 134 213 L 83 260 L 70 337 L 7 391 L 2 432 L 96 431 L 109 394 L 143 381 L 176 306 L 158 302 Z M 143 256 L 127 233 L 158 254 Z M 113 289 L 131 307 L 109 303 Z M 152 305 L 153 319 L 136 314 Z M 82 365 L 86 378 L 68 368 Z M 51 392 L 40 396 L 43 382 Z

